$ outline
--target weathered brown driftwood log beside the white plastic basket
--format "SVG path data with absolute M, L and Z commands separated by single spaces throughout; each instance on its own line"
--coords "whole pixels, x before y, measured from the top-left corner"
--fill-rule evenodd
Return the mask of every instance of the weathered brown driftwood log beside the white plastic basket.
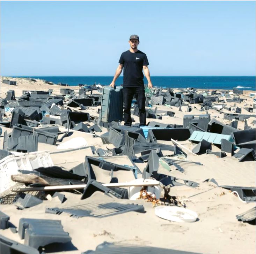
M 35 174 L 17 174 L 11 175 L 11 179 L 14 182 L 24 183 L 24 184 L 42 184 L 45 186 L 58 186 L 58 185 L 69 185 L 71 184 L 83 184 L 80 180 L 74 179 L 60 179 L 55 177 L 48 177 L 45 175 L 35 175 Z

